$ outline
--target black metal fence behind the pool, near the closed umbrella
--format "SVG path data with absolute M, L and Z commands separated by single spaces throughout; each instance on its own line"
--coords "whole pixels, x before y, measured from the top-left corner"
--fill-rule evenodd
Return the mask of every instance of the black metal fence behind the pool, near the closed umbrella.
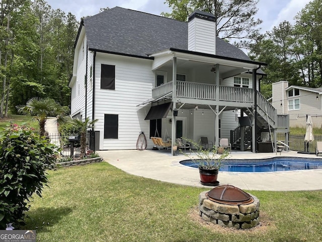
M 316 142 L 322 141 L 322 135 L 314 135 L 314 141 L 311 141 L 311 142 L 305 142 L 304 137 L 305 135 L 289 135 L 288 146 L 293 151 L 302 151 L 302 152 L 308 151 L 308 152 L 315 153 Z M 285 135 L 278 133 L 277 140 L 284 141 Z

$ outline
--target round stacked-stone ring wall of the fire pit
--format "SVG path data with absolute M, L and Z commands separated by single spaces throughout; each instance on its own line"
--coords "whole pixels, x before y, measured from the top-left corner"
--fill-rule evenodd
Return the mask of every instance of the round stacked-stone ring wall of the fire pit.
M 259 224 L 260 200 L 251 195 L 251 204 L 229 205 L 213 202 L 206 197 L 208 191 L 199 194 L 199 215 L 205 221 L 223 227 L 246 229 Z

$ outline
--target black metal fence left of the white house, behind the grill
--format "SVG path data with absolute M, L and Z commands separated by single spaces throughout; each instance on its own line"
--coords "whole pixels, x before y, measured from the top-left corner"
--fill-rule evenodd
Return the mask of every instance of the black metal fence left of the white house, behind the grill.
M 69 142 L 70 136 L 77 136 L 76 135 L 61 135 L 56 133 L 50 133 L 48 134 L 48 137 L 50 139 L 50 142 L 54 145 L 56 145 L 58 148 L 60 148 L 60 154 L 62 156 L 77 156 L 81 153 L 81 142 L 76 141 L 73 142 L 73 145 L 71 145 L 71 142 Z M 86 151 L 88 150 L 95 150 L 95 135 L 93 132 L 88 132 L 86 137 Z M 73 151 L 71 150 L 73 148 Z

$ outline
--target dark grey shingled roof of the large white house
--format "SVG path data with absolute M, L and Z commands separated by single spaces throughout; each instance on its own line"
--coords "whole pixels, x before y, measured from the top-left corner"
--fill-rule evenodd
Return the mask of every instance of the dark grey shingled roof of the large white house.
M 147 57 L 158 51 L 188 50 L 188 23 L 115 7 L 84 19 L 91 50 Z M 216 39 L 216 55 L 250 58 L 242 50 Z

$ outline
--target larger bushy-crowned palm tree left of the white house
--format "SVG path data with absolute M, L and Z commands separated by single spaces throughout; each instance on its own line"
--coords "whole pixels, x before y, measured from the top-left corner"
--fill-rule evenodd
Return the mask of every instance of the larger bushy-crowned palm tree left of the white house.
M 58 116 L 61 117 L 69 112 L 69 108 L 66 106 L 61 106 L 58 102 L 51 98 L 39 98 L 33 97 L 27 101 L 27 104 L 16 106 L 18 112 L 24 115 L 35 116 L 34 120 L 37 120 L 40 128 L 40 136 L 45 135 L 45 123 L 47 117 Z

